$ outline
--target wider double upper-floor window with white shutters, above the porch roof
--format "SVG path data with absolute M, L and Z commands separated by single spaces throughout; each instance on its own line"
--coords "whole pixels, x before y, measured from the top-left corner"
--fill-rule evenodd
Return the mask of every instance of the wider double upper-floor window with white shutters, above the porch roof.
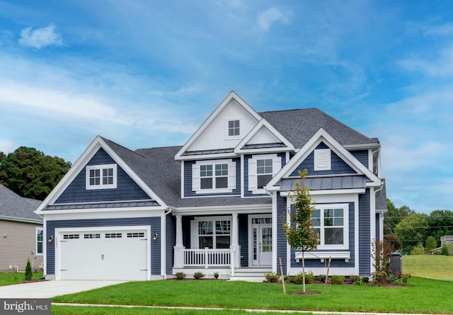
M 231 193 L 236 188 L 236 162 L 197 161 L 192 166 L 192 190 L 196 193 Z

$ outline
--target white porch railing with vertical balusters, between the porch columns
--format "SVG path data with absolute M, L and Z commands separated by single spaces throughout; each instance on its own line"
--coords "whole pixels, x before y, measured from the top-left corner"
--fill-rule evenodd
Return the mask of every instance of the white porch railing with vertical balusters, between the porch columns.
M 184 266 L 185 267 L 225 267 L 231 265 L 234 251 L 230 248 L 212 249 L 196 248 L 184 249 Z

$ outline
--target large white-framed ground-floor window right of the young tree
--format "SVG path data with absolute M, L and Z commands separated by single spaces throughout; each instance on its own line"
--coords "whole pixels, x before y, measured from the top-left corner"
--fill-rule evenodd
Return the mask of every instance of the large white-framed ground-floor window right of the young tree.
M 319 249 L 348 249 L 348 204 L 315 205 L 311 222 L 319 233 Z

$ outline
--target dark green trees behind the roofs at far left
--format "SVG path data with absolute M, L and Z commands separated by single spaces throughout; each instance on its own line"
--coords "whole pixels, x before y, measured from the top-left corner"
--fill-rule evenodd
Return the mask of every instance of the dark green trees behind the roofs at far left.
M 44 200 L 71 168 L 71 162 L 35 148 L 19 147 L 0 163 L 0 183 L 23 197 Z

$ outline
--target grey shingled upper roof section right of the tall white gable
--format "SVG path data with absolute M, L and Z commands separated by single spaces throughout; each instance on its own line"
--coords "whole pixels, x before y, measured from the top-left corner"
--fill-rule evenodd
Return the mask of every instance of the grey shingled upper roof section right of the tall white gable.
M 296 148 L 302 148 L 320 128 L 331 134 L 343 147 L 379 145 L 378 139 L 366 137 L 318 108 L 276 110 L 258 114 L 268 120 Z

